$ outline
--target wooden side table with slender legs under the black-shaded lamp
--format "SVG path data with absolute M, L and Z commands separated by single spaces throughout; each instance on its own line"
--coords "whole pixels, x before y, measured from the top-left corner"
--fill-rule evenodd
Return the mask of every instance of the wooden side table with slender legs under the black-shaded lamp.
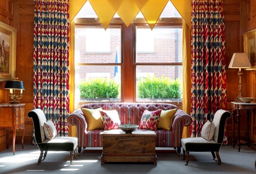
M 25 120 L 24 120 L 25 104 L 9 104 L 0 103 L 0 128 L 11 128 L 13 131 L 13 154 L 15 155 L 15 139 L 16 129 L 22 129 L 22 148 L 24 149 L 24 134 L 25 134 Z M 8 133 L 7 133 L 7 148 Z

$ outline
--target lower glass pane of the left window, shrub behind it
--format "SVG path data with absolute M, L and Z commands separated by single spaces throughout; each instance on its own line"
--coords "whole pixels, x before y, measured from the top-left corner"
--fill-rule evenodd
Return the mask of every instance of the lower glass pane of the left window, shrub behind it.
M 76 65 L 76 101 L 120 101 L 120 68 Z

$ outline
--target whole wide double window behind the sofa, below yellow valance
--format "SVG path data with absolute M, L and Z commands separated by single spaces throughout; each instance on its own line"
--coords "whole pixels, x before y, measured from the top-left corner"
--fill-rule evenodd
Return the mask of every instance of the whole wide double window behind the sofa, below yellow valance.
M 96 18 L 89 1 L 75 18 L 77 108 L 90 101 L 182 101 L 182 18 L 170 1 L 153 30 L 141 13 L 129 27 L 116 14 L 106 31 Z

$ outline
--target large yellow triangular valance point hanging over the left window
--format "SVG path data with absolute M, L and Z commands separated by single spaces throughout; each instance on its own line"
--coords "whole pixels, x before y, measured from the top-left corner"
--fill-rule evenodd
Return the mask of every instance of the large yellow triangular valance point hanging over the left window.
M 104 29 L 108 28 L 123 0 L 89 0 Z

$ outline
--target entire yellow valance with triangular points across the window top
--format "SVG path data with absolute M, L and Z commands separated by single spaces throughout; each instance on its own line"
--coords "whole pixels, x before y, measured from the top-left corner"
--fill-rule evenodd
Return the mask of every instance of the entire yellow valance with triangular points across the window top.
M 70 21 L 74 19 L 87 0 L 70 0 Z M 191 0 L 170 0 L 191 28 Z M 89 0 L 106 30 L 115 13 L 129 26 L 141 11 L 153 29 L 168 0 Z

